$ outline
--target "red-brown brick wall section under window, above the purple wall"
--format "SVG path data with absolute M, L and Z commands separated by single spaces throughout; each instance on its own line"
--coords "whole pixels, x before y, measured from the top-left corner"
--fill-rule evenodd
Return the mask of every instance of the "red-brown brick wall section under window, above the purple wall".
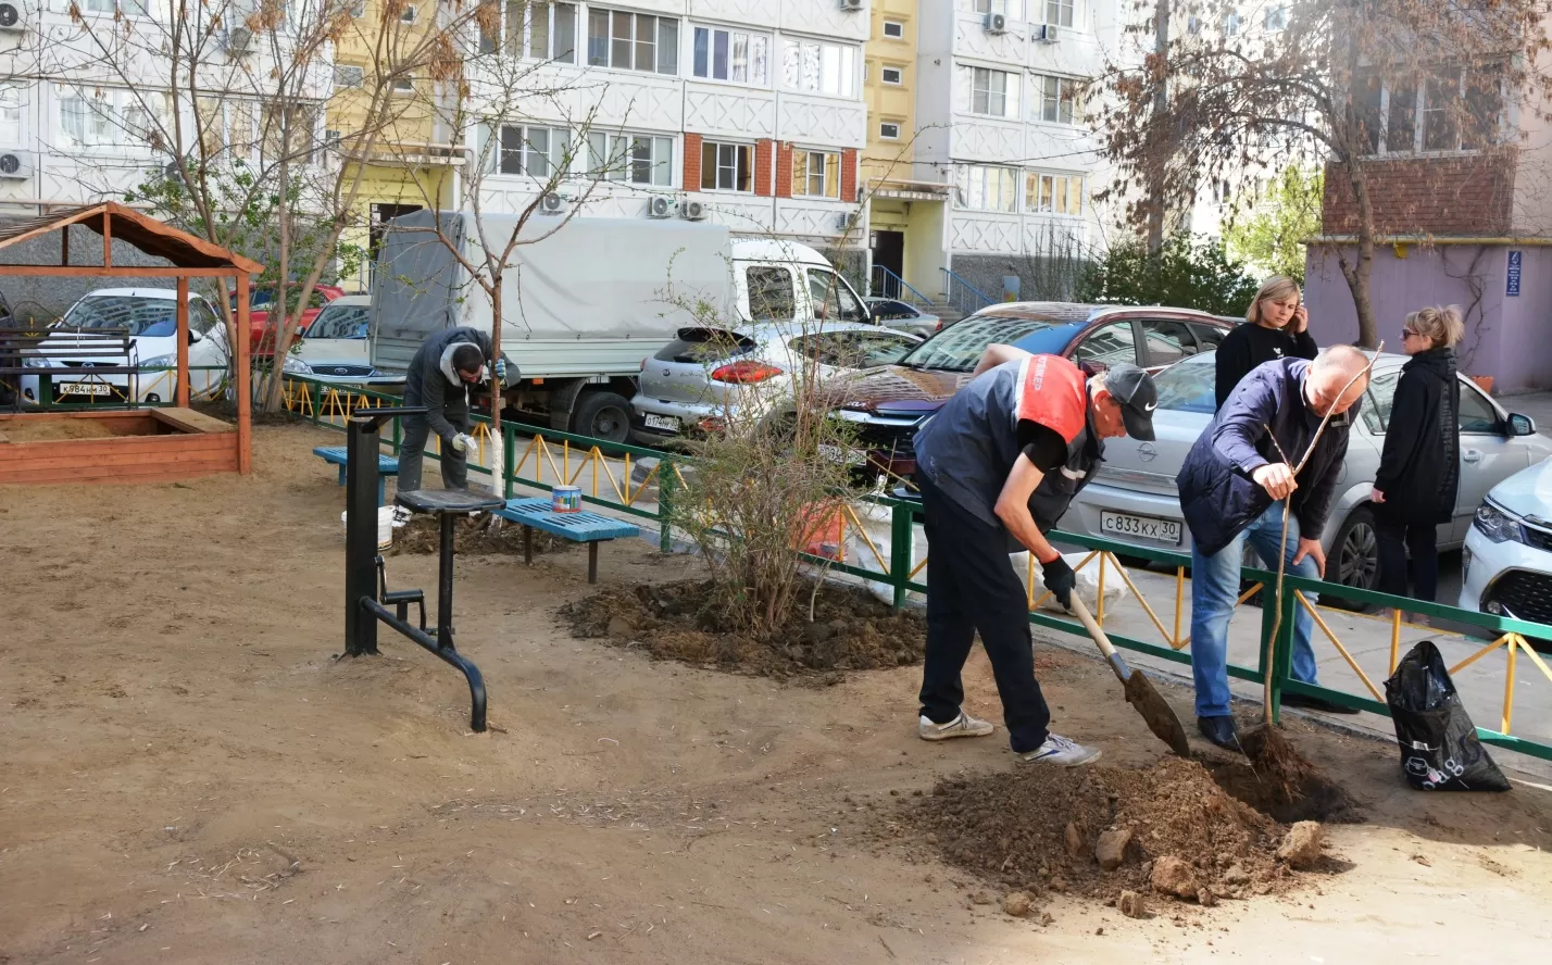
M 1501 236 L 1513 220 L 1513 152 L 1366 163 L 1375 231 L 1384 234 Z M 1355 234 L 1358 203 L 1346 169 L 1325 166 L 1325 234 Z

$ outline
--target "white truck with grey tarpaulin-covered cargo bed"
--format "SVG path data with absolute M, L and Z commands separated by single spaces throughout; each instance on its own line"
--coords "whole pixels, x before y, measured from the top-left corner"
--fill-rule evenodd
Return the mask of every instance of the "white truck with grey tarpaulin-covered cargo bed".
M 490 299 L 442 239 L 483 267 L 487 247 L 504 248 L 515 225 L 517 216 L 453 211 L 388 223 L 369 324 L 379 372 L 402 374 L 431 332 L 490 330 Z M 680 219 L 534 216 L 503 272 L 501 299 L 508 411 L 613 442 L 630 433 L 641 366 L 680 329 L 869 318 L 813 248 L 734 239 L 722 225 Z

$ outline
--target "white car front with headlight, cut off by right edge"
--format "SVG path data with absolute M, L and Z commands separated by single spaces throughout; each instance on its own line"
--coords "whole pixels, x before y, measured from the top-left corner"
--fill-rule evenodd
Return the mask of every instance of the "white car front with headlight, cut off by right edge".
M 1495 486 L 1460 554 L 1460 608 L 1552 624 L 1552 462 Z

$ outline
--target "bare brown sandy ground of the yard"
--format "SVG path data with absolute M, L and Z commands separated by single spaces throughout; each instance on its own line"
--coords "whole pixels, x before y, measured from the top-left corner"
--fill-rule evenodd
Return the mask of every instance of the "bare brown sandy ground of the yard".
M 1544 960 L 1552 788 L 1423 796 L 1391 748 L 1301 731 L 1367 807 L 1344 873 L 1150 920 L 1058 898 L 973 906 L 869 810 L 1001 738 L 914 737 L 919 670 L 833 687 L 577 641 L 585 554 L 459 563 L 452 669 L 396 638 L 341 650 L 338 436 L 261 428 L 250 479 L 0 490 L 0 962 Z M 644 543 L 602 580 L 681 579 Z M 435 586 L 394 557 L 393 586 Z M 1037 644 L 1057 726 L 1111 763 L 1161 748 L 1097 661 Z M 996 717 L 984 659 L 970 706 Z M 1189 707 L 1172 692 L 1178 707 Z M 1162 903 L 1156 903 L 1162 904 Z

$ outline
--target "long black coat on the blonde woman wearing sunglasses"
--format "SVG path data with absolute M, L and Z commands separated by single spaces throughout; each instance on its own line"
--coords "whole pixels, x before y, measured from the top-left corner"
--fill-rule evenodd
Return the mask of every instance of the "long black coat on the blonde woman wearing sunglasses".
M 1400 523 L 1448 523 L 1460 489 L 1460 380 L 1454 349 L 1429 349 L 1401 366 L 1374 487 L 1375 515 Z

